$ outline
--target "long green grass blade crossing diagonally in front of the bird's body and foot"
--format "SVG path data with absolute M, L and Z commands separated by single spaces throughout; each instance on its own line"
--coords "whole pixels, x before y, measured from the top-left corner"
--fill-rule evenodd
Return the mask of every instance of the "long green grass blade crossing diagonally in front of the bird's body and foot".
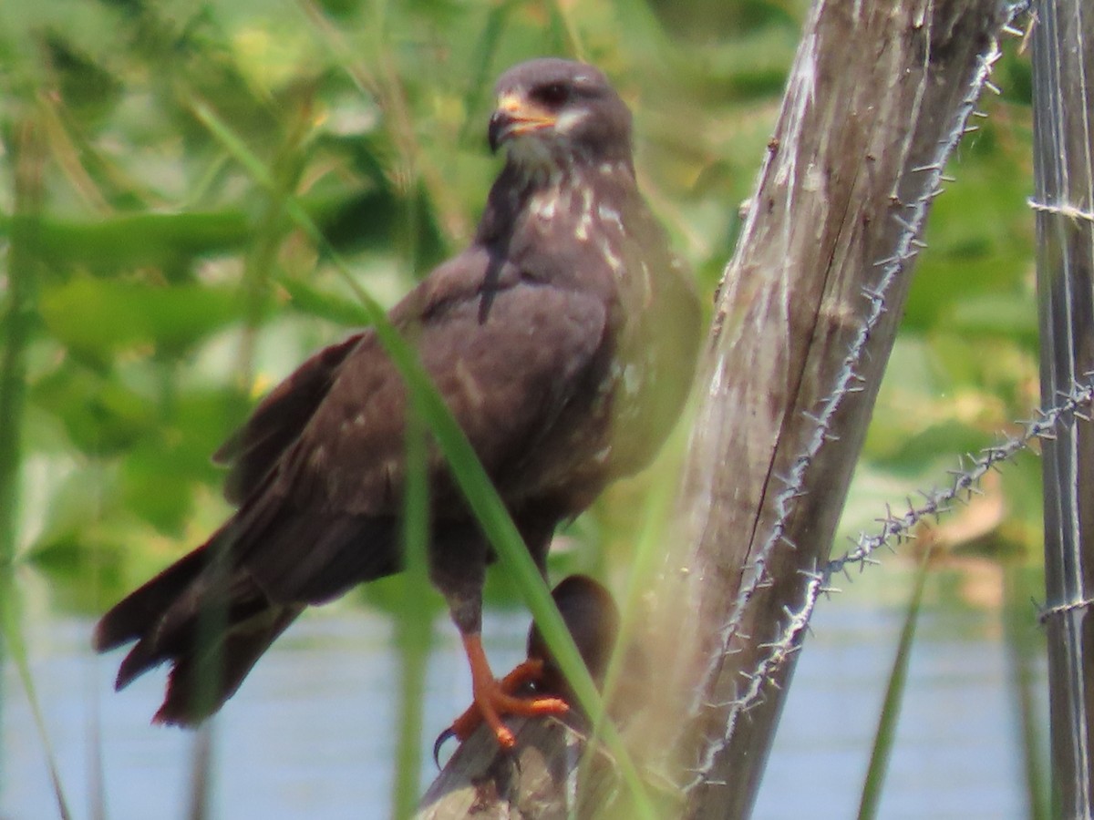
M 252 177 L 267 190 L 272 190 L 274 184 L 270 175 L 261 162 L 247 149 L 243 140 L 232 133 L 231 129 L 208 106 L 195 103 L 194 110 L 201 122 L 209 128 Z M 412 405 L 418 408 L 433 434 L 433 438 L 447 460 L 452 476 L 466 497 L 468 506 L 494 548 L 499 561 L 520 590 L 532 617 L 567 676 L 579 703 L 594 723 L 602 721 L 604 713 L 602 699 L 589 670 L 585 669 L 578 647 L 566 629 L 562 616 L 555 606 L 550 591 L 544 584 L 539 570 L 528 554 L 505 505 L 482 468 L 470 442 L 464 435 L 464 431 L 456 423 L 441 394 L 418 360 L 417 351 L 387 320 L 387 315 L 380 303 L 357 283 L 349 268 L 341 261 L 334 248 L 329 247 L 318 227 L 300 203 L 290 197 L 287 198 L 284 204 L 289 218 L 318 247 L 329 254 L 339 273 L 361 301 L 365 314 L 372 320 L 376 336 L 407 385 Z M 622 739 L 609 722 L 604 722 L 603 737 L 608 750 L 616 759 L 639 817 L 652 820 L 656 816 L 653 804 Z

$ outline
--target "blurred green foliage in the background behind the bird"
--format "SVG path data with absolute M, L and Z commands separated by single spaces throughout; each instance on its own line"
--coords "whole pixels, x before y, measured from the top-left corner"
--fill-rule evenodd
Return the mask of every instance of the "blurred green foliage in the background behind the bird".
M 20 454 L 8 549 L 67 567 L 65 604 L 95 609 L 198 542 L 225 511 L 209 454 L 258 395 L 362 320 L 326 248 L 392 304 L 470 236 L 498 167 L 484 137 L 491 85 L 519 60 L 574 56 L 614 79 L 636 112 L 640 180 L 709 304 L 805 8 L 0 5 L 0 362 L 20 386 L 0 395 L 18 410 L 0 440 Z M 851 529 L 943 481 L 958 454 L 1036 402 L 1024 58 L 1008 54 L 997 84 L 934 207 Z M 326 246 L 287 218 L 290 198 Z M 24 332 L 8 332 L 16 319 Z M 996 525 L 1022 549 L 1038 538 L 1037 469 L 1020 464 L 989 490 L 1008 511 Z M 605 548 L 583 561 L 621 558 L 614 546 L 636 537 L 632 499 L 648 480 L 579 525 Z M 94 594 L 77 583 L 88 572 Z

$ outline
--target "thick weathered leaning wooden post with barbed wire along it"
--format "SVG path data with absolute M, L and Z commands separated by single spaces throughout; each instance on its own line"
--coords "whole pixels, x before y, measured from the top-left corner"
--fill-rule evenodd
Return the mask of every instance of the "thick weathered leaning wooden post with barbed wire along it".
M 664 691 L 628 727 L 643 765 L 675 773 L 674 817 L 750 810 L 919 236 L 1013 13 L 1001 0 L 818 0 L 806 23 L 723 280 L 652 588 L 660 629 L 643 643 Z M 504 813 L 521 805 L 511 795 L 473 804 L 482 815 L 447 799 L 488 770 L 481 755 L 462 750 L 420 817 L 523 816 Z

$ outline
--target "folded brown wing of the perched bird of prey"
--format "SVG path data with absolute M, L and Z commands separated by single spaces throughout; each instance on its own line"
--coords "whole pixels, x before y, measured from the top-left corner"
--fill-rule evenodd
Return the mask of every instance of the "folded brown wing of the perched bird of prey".
M 457 257 L 392 316 L 497 478 L 590 389 L 591 372 L 607 360 L 607 308 L 503 271 L 484 312 L 485 267 L 474 255 Z M 292 406 L 284 395 L 280 401 Z M 363 335 L 237 517 L 234 563 L 274 600 L 327 600 L 398 569 L 406 408 L 398 370 L 376 337 Z M 466 517 L 439 454 L 428 472 L 434 515 Z

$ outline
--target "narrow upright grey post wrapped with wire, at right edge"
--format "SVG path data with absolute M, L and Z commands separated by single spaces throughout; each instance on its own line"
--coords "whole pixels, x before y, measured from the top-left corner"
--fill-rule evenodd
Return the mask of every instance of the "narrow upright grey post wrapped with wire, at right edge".
M 1035 3 L 1034 200 L 1041 402 L 1094 372 L 1094 8 Z M 1094 429 L 1044 445 L 1045 585 L 1055 817 L 1094 816 Z

